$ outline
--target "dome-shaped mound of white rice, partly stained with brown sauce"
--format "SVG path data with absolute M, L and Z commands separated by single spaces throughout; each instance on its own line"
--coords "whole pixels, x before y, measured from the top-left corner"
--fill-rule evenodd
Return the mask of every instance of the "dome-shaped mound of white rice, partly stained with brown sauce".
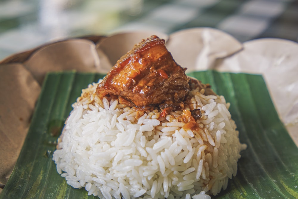
M 100 100 L 90 84 L 73 104 L 53 160 L 74 188 L 99 198 L 210 198 L 236 175 L 240 144 L 223 96 L 190 91 L 199 131 L 184 129 L 182 111 L 160 117 L 117 100 Z

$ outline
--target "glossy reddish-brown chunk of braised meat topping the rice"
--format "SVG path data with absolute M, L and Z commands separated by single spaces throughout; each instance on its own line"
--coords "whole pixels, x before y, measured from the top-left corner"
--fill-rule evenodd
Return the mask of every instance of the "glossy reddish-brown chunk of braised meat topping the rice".
M 120 103 L 137 107 L 183 101 L 190 90 L 190 79 L 164 43 L 151 36 L 136 44 L 98 84 L 99 97 L 116 95 Z

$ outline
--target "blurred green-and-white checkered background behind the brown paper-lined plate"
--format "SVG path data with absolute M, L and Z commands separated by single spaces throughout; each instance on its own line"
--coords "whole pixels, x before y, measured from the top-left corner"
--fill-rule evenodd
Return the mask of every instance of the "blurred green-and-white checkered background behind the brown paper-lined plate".
M 298 41 L 294 0 L 0 0 L 0 60 L 69 37 L 214 27 L 244 42 Z

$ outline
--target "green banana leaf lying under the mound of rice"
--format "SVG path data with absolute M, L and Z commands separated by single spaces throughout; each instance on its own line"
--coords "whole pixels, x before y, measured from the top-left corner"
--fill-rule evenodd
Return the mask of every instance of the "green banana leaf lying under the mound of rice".
M 261 75 L 192 72 L 231 103 L 230 112 L 247 144 L 238 173 L 212 198 L 298 198 L 298 149 L 280 121 Z M 43 84 L 30 129 L 13 173 L 0 194 L 7 198 L 97 198 L 74 189 L 56 171 L 52 153 L 71 104 L 103 74 L 54 72 Z

